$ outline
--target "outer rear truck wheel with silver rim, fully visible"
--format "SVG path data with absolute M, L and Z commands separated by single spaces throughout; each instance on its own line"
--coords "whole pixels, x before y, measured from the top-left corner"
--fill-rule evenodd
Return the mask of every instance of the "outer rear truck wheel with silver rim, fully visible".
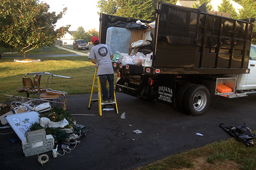
M 195 84 L 188 88 L 184 95 L 183 105 L 185 112 L 193 116 L 200 116 L 207 111 L 210 103 L 210 93 L 208 88 Z

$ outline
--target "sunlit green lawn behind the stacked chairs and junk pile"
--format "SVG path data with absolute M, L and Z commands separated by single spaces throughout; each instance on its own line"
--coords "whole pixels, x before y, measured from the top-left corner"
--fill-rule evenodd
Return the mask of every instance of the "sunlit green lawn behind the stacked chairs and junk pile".
M 72 79 L 55 77 L 52 83 L 53 89 L 66 91 L 69 95 L 89 94 L 92 89 L 96 67 L 88 57 L 38 57 L 36 59 L 41 59 L 41 62 L 30 63 L 14 62 L 13 59 L 0 59 L 0 103 L 5 101 L 4 94 L 26 96 L 16 91 L 23 86 L 22 76 L 26 73 L 46 71 L 71 76 Z M 47 76 L 42 76 L 41 85 L 46 86 L 46 82 Z

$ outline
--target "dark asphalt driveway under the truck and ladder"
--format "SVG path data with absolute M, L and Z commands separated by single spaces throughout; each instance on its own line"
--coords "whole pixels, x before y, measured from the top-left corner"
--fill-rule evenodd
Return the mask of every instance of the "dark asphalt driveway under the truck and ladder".
M 121 93 L 116 96 L 119 113 L 103 111 L 102 116 L 98 115 L 97 103 L 88 109 L 90 95 L 68 96 L 68 111 L 76 123 L 95 131 L 88 131 L 69 154 L 53 158 L 52 152 L 46 152 L 49 161 L 43 167 L 37 155 L 24 156 L 15 133 L 0 135 L 0 169 L 133 169 L 230 138 L 220 128 L 220 123 L 227 126 L 247 123 L 251 130 L 256 130 L 256 95 L 240 99 L 212 96 L 208 112 L 198 117 L 179 113 L 156 101 L 148 102 Z M 93 99 L 95 97 L 97 94 L 93 94 Z M 133 130 L 142 133 L 136 134 Z M 3 134 L 12 129 L 0 131 Z M 11 143 L 10 139 L 17 141 Z

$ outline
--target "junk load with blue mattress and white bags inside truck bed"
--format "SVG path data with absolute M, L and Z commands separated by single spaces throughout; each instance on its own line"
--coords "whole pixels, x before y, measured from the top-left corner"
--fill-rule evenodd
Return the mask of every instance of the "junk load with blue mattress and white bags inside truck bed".
M 114 55 L 114 61 L 122 65 L 151 66 L 152 36 L 155 22 L 147 24 L 137 20 L 136 23 L 111 23 L 107 29 L 106 45 Z

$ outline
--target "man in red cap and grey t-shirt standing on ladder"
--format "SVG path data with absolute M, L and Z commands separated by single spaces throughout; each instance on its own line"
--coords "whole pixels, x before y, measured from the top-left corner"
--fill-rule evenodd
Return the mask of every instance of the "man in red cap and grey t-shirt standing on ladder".
M 101 82 L 102 100 L 104 103 L 112 103 L 114 100 L 114 70 L 112 66 L 113 54 L 108 45 L 100 44 L 98 37 L 92 37 L 93 47 L 90 49 L 89 59 L 96 64 L 98 76 Z M 106 88 L 106 80 L 109 82 L 109 95 Z

